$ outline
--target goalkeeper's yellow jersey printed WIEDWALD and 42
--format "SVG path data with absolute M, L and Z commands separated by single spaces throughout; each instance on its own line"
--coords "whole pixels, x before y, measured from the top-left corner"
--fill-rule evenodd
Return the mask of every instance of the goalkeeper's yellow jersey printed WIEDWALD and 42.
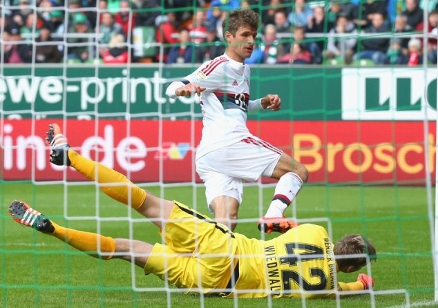
M 323 227 L 302 224 L 267 241 L 235 235 L 240 274 L 227 298 L 235 293 L 241 298 L 333 296 L 336 262 Z

